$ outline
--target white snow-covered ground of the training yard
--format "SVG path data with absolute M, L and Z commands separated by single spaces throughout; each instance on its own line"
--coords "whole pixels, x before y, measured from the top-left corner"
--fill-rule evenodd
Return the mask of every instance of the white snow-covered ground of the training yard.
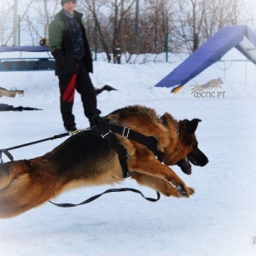
M 226 60 L 234 58 L 241 59 L 236 50 L 225 56 Z M 126 192 L 64 209 L 45 203 L 19 217 L 0 219 L 1 255 L 256 255 L 256 67 L 249 62 L 218 62 L 171 94 L 170 89 L 152 88 L 180 60 L 170 61 L 143 65 L 96 61 L 91 78 L 97 88 L 109 84 L 118 89 L 97 96 L 102 115 L 142 104 L 177 119 L 202 119 L 197 138 L 208 165 L 194 166 L 190 176 L 173 167 L 195 188 L 195 195 L 189 199 L 162 196 L 153 203 Z M 191 86 L 217 78 L 224 82 L 215 90 L 219 94 L 191 94 Z M 0 87 L 25 90 L 23 97 L 1 97 L 1 103 L 43 109 L 1 112 L 0 148 L 65 132 L 53 71 L 0 73 Z M 78 128 L 87 127 L 78 94 L 73 110 Z M 29 159 L 49 152 L 64 139 L 10 153 L 15 160 Z M 155 197 L 153 190 L 130 179 L 114 186 L 119 187 L 140 189 Z M 55 202 L 79 203 L 110 188 L 75 189 Z

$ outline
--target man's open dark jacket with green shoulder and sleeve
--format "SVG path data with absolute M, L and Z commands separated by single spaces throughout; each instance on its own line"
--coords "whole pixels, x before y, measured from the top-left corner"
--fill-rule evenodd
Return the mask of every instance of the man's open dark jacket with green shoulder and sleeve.
M 84 25 L 82 23 L 82 14 L 74 11 L 73 18 L 78 20 L 82 27 L 84 39 L 84 66 L 87 72 L 92 73 L 92 56 L 86 37 Z M 49 49 L 55 57 L 55 75 L 68 73 L 78 73 L 77 62 L 73 55 L 72 33 L 68 22 L 68 17 L 64 10 L 55 15 L 55 19 L 49 25 Z

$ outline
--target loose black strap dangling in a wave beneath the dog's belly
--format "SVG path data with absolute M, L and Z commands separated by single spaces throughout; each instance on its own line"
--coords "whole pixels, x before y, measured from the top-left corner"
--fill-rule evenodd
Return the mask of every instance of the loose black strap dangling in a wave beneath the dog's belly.
M 137 190 L 137 189 L 123 188 L 123 189 L 108 189 L 105 192 L 103 192 L 102 194 L 91 196 L 89 199 L 87 199 L 85 201 L 82 201 L 79 204 L 71 204 L 71 203 L 58 204 L 58 203 L 55 203 L 55 202 L 52 202 L 52 201 L 49 201 L 49 202 L 51 204 L 55 205 L 56 207 L 64 207 L 64 208 L 66 208 L 66 207 L 79 207 L 79 206 L 88 204 L 91 201 L 95 201 L 97 198 L 99 198 L 100 196 L 102 196 L 104 194 L 115 193 L 115 192 L 125 192 L 125 191 L 131 191 L 131 192 L 137 193 L 139 195 L 142 195 L 143 198 L 146 199 L 147 201 L 155 202 L 155 201 L 160 200 L 160 193 L 159 192 L 156 192 L 157 198 L 150 198 L 150 197 L 146 197 L 145 195 L 143 195 L 143 193 L 141 191 Z

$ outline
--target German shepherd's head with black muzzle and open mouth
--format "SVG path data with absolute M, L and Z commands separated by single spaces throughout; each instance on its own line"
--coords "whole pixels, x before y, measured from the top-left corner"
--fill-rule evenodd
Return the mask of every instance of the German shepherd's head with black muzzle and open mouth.
M 165 114 L 166 115 L 166 114 Z M 186 174 L 191 174 L 192 166 L 206 166 L 207 156 L 198 148 L 198 142 L 195 138 L 195 130 L 201 119 L 193 119 L 189 121 L 184 119 L 177 123 L 172 122 L 172 116 L 165 117 L 166 126 L 172 137 L 173 131 L 176 131 L 176 143 L 171 143 L 165 148 L 164 163 L 166 166 L 177 165 Z M 173 128 L 175 125 L 175 129 Z

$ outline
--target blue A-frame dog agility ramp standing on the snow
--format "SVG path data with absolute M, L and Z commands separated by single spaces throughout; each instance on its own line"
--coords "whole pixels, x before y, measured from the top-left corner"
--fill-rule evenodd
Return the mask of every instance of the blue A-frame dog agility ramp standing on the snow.
M 154 86 L 172 88 L 173 91 L 219 61 L 233 47 L 236 47 L 256 65 L 256 33 L 247 26 L 227 26 L 215 33 L 166 78 Z

